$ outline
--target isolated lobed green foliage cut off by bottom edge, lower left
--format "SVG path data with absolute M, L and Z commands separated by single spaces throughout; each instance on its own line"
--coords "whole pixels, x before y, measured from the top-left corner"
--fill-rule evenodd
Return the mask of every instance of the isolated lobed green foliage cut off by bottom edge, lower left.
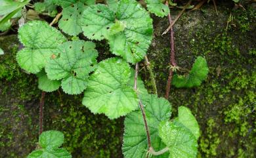
M 59 148 L 64 142 L 64 134 L 57 130 L 47 130 L 39 136 L 41 149 L 32 151 L 27 158 L 71 158 L 64 148 Z

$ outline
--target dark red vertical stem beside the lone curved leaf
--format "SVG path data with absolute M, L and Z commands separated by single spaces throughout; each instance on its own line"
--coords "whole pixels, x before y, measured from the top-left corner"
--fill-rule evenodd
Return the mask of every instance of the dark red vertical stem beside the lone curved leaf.
M 168 1 L 166 1 L 165 5 L 168 5 Z M 171 13 L 168 14 L 168 19 L 169 19 L 169 24 L 172 24 L 172 20 L 171 20 Z M 171 26 L 170 28 L 170 44 L 171 44 L 171 53 L 170 53 L 170 65 L 175 67 L 177 66 L 176 62 L 175 62 L 175 49 L 174 49 L 174 31 L 173 31 L 173 26 Z M 165 87 L 165 98 L 168 99 L 169 97 L 169 92 L 171 89 L 171 79 L 173 79 L 173 69 L 169 69 L 169 76 L 167 79 L 167 84 Z

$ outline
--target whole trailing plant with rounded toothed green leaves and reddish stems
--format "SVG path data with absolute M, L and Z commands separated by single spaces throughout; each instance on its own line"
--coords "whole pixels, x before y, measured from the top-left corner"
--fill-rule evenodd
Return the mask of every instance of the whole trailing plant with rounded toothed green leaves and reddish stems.
M 146 0 L 146 4 L 150 12 L 171 19 L 163 1 Z M 196 157 L 200 128 L 190 109 L 180 106 L 178 116 L 171 119 L 169 92 L 165 98 L 148 94 L 139 77 L 138 63 L 146 56 L 153 34 L 152 18 L 146 9 L 135 0 L 107 0 L 104 4 L 92 0 L 48 0 L 42 10 L 56 5 L 62 7 L 62 12 L 53 22 L 62 14 L 58 27 L 64 33 L 106 39 L 116 57 L 97 62 L 100 54 L 92 41 L 79 37 L 70 41 L 47 22 L 27 22 L 18 30 L 24 48 L 16 60 L 22 69 L 37 75 L 39 89 L 52 92 L 61 87 L 67 94 L 83 92 L 82 104 L 93 113 L 103 113 L 110 119 L 125 116 L 125 158 Z M 174 60 L 172 65 L 172 69 L 179 69 Z M 175 74 L 172 83 L 176 87 L 196 87 L 207 73 L 206 60 L 200 56 L 188 75 Z M 58 148 L 62 142 L 63 134 L 43 132 L 39 138 L 41 149 L 28 157 L 71 157 Z M 63 155 L 56 156 L 55 151 L 63 151 Z

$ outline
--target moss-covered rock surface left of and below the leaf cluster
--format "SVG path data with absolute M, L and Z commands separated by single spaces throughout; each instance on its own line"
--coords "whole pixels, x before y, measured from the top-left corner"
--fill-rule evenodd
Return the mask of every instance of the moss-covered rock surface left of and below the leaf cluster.
M 37 146 L 41 91 L 35 75 L 16 63 L 17 37 L 1 37 L 0 47 L 5 50 L 0 56 L 0 157 L 26 157 Z M 44 130 L 64 132 L 64 146 L 73 157 L 120 157 L 123 119 L 93 115 L 81 105 L 82 98 L 61 90 L 47 93 Z

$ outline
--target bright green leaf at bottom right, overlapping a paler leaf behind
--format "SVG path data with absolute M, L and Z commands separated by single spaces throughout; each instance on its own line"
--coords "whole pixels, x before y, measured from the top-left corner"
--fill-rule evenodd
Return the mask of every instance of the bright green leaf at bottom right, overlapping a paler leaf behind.
M 169 148 L 169 158 L 193 158 L 198 153 L 196 138 L 177 121 L 163 121 L 159 126 L 161 140 Z

